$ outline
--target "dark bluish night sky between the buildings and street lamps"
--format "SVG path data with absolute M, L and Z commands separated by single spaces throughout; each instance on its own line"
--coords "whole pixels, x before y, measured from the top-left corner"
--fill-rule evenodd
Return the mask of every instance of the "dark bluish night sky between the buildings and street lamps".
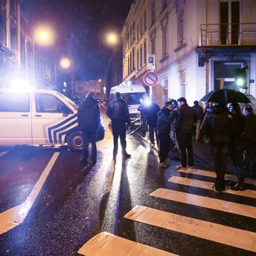
M 75 78 L 102 78 L 112 48 L 105 33 L 121 33 L 133 0 L 23 0 L 22 9 L 33 24 L 53 26 L 59 57 L 72 61 Z

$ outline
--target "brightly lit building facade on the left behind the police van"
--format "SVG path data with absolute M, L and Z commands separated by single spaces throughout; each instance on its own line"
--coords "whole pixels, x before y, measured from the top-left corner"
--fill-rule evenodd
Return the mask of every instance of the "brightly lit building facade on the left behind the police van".
M 36 46 L 32 23 L 19 0 L 0 2 L 0 88 L 14 78 L 37 88 L 54 87 L 53 59 L 49 50 Z

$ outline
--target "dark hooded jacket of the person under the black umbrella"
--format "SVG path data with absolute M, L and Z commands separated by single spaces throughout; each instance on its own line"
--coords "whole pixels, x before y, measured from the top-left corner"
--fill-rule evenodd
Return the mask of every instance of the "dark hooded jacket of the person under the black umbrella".
M 232 115 L 228 112 L 227 107 L 212 106 L 207 109 L 200 129 L 203 133 L 209 134 L 211 144 L 229 144 L 232 122 Z

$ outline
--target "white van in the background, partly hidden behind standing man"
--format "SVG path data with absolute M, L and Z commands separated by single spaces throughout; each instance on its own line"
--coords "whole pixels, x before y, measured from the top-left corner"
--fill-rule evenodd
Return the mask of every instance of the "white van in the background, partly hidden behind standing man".
M 143 99 L 148 98 L 147 92 L 143 85 L 118 85 L 110 89 L 109 102 L 114 99 L 115 93 L 119 92 L 126 101 L 130 113 L 130 118 L 140 119 L 138 107 Z

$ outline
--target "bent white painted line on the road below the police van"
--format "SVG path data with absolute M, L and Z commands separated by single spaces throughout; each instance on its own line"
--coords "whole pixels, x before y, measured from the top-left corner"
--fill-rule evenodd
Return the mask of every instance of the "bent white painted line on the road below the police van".
M 43 173 L 40 175 L 36 185 L 33 186 L 33 189 L 26 201 L 19 206 L 13 207 L 12 209 L 8 209 L 5 212 L 0 213 L 0 234 L 11 230 L 13 227 L 18 226 L 25 220 L 29 210 L 33 206 L 33 202 L 35 202 L 36 197 L 40 193 L 44 182 L 47 180 L 47 176 L 50 174 L 54 163 L 57 161 L 59 154 L 60 152 L 55 152 L 54 155 L 50 158 L 47 167 L 43 170 Z

